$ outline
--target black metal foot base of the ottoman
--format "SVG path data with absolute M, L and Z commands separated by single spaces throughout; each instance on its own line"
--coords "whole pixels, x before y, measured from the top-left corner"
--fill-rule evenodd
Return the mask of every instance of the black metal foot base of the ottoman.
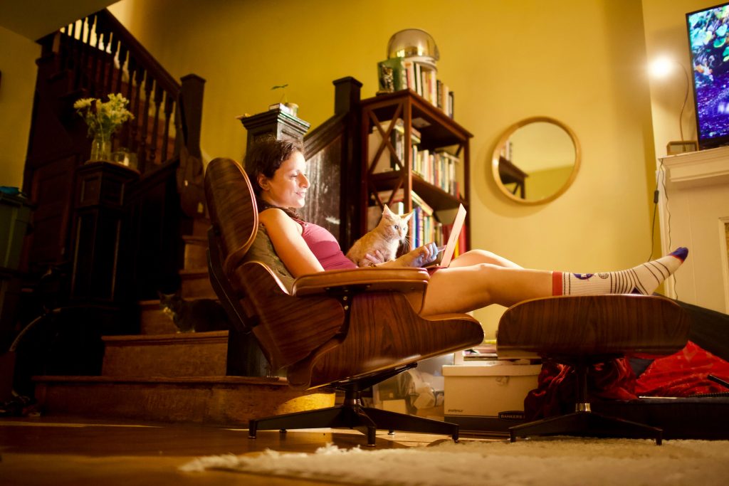
M 656 445 L 663 442 L 663 430 L 660 428 L 587 411 L 523 423 L 509 428 L 509 434 L 511 442 L 516 442 L 517 437 L 548 435 L 655 439 Z

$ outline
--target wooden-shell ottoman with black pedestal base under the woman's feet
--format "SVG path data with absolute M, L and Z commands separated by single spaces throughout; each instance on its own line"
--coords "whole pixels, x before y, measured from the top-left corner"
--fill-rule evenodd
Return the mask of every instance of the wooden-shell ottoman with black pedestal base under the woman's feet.
M 581 435 L 652 438 L 660 445 L 660 428 L 590 409 L 588 369 L 631 353 L 675 353 L 686 345 L 689 328 L 686 311 L 658 296 L 562 296 L 513 305 L 499 321 L 499 358 L 538 356 L 570 365 L 577 385 L 574 412 L 514 426 L 511 442 L 525 436 Z

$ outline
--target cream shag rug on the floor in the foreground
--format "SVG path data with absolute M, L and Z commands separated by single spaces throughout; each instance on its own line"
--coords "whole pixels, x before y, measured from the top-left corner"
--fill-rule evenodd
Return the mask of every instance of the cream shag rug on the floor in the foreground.
M 729 441 L 546 437 L 313 454 L 198 458 L 182 471 L 223 469 L 353 485 L 713 486 L 729 484 Z

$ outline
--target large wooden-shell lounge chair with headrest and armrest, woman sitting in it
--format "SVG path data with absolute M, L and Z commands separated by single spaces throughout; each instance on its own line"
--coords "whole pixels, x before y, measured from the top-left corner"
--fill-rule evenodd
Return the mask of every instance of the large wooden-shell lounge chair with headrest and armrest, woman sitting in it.
M 303 275 L 288 291 L 267 262 L 246 259 L 259 224 L 241 166 L 230 159 L 211 161 L 205 192 L 211 282 L 238 332 L 252 334 L 270 368 L 286 370 L 292 388 L 345 393 L 338 407 L 249 420 L 250 437 L 258 430 L 347 427 L 366 434 L 370 446 L 378 428 L 458 440 L 457 424 L 363 407 L 360 397 L 419 360 L 479 344 L 478 321 L 466 314 L 418 315 L 429 275 L 417 268 Z

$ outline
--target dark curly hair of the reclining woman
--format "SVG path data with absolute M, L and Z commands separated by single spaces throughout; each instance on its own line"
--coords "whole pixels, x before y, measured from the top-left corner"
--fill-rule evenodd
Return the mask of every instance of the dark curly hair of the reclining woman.
M 289 159 L 296 152 L 303 152 L 303 146 L 298 141 L 278 140 L 278 138 L 272 135 L 257 138 L 246 150 L 243 168 L 251 180 L 251 186 L 256 195 L 259 212 L 276 206 L 272 206 L 261 199 L 262 189 L 258 184 L 258 176 L 263 174 L 270 179 L 278 171 L 278 168 L 281 167 L 281 164 L 284 163 L 284 160 Z M 298 217 L 296 213 L 290 211 L 288 208 L 281 209 L 288 213 L 289 216 Z

